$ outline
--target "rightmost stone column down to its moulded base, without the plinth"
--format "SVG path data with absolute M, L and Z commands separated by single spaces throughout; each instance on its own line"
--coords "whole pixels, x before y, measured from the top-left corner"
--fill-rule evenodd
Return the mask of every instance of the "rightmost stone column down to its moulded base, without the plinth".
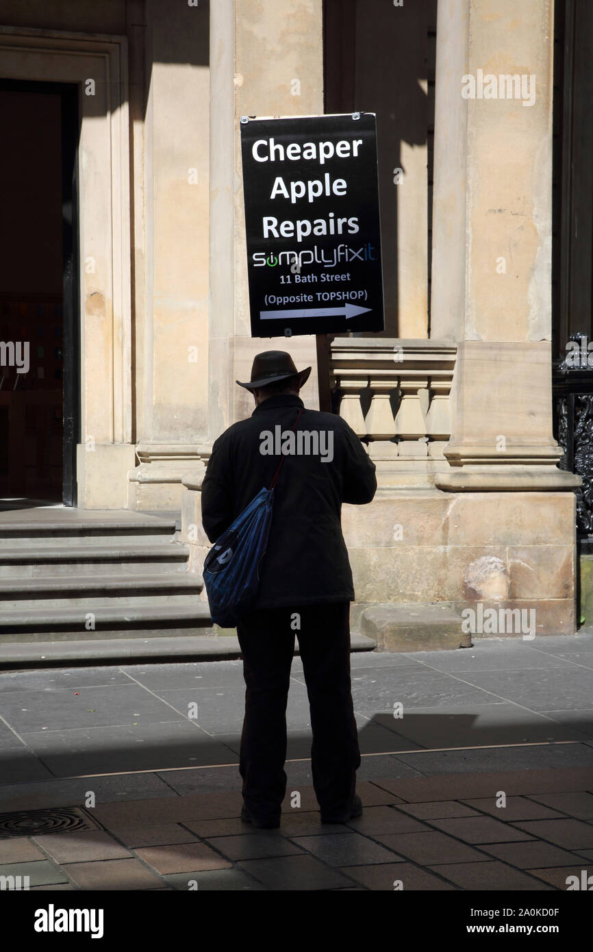
M 439 0 L 431 335 L 447 490 L 569 489 L 551 427 L 553 0 Z

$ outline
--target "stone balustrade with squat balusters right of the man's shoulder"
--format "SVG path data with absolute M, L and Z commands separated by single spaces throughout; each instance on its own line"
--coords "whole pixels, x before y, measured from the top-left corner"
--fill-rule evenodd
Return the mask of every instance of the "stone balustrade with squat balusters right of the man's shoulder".
M 448 469 L 449 341 L 339 337 L 330 344 L 330 387 L 340 416 L 362 437 L 380 486 L 434 486 Z

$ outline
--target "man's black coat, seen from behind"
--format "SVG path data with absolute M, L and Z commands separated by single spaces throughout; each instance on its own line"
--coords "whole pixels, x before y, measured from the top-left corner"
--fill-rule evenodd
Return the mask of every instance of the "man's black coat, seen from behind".
M 210 542 L 272 481 L 282 457 L 261 453 L 262 434 L 274 433 L 278 425 L 282 432 L 290 430 L 304 406 L 296 395 L 268 397 L 248 420 L 229 426 L 216 440 L 202 483 L 202 524 Z M 320 438 L 325 452 L 285 457 L 255 609 L 354 599 L 341 506 L 370 503 L 377 488 L 375 465 L 353 430 L 333 413 L 305 409 L 297 429 L 325 431 Z M 323 463 L 331 441 L 333 459 Z

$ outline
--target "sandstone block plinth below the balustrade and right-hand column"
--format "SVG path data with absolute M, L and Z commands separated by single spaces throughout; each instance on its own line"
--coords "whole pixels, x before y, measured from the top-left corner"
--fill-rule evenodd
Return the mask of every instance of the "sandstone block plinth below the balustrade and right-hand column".
M 537 634 L 575 631 L 573 493 L 379 490 L 368 506 L 344 506 L 342 524 L 355 625 L 363 606 L 413 602 L 470 608 L 477 623 L 479 604 L 534 610 Z M 474 633 L 524 634 L 507 627 Z

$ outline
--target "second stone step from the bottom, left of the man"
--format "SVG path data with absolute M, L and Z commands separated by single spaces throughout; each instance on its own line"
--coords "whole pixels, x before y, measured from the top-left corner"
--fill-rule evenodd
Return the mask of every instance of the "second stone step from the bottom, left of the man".
M 87 629 L 92 612 L 94 628 Z M 37 607 L 0 612 L 0 643 L 18 644 L 54 641 L 94 642 L 113 638 L 168 638 L 199 633 L 213 635 L 208 603 L 194 605 L 143 605 L 121 608 L 96 605 L 89 612 L 80 608 Z

